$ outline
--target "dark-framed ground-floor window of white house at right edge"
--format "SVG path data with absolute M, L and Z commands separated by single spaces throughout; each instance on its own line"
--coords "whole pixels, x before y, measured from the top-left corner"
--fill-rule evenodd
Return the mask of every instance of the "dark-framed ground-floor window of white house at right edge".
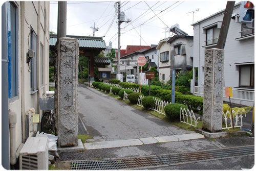
M 239 66 L 239 86 L 254 87 L 254 64 Z

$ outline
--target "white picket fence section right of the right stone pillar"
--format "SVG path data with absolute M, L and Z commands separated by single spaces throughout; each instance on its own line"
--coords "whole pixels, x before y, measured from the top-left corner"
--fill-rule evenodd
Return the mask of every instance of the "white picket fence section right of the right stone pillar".
M 242 109 L 241 111 L 238 110 L 237 112 L 232 110 L 232 114 L 233 114 L 234 128 L 241 129 L 243 127 L 243 114 L 246 114 L 245 110 Z M 222 112 L 222 116 L 223 116 L 222 118 L 225 121 L 224 125 L 222 126 L 222 129 L 233 128 L 231 113 L 227 110 L 226 113 Z

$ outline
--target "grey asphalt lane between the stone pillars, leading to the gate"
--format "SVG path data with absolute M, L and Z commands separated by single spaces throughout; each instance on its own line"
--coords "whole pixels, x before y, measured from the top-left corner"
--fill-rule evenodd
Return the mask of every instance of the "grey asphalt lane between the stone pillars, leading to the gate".
M 79 116 L 87 133 L 93 137 L 88 140 L 90 142 L 122 142 L 120 140 L 165 136 L 170 138 L 173 135 L 188 136 L 195 133 L 172 126 L 91 87 L 78 87 L 78 101 Z

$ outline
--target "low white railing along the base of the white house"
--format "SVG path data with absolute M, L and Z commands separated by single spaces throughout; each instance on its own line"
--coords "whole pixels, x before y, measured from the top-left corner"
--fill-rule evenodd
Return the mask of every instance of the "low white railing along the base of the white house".
M 204 87 L 195 86 L 194 93 L 204 94 Z M 233 99 L 254 101 L 254 91 L 232 89 L 232 93 Z M 223 96 L 225 96 L 225 89 L 223 90 Z

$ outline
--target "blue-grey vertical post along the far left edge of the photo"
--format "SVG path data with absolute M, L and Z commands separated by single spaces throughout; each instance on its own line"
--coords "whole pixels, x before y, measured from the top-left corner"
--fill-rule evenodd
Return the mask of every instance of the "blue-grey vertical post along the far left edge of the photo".
M 7 4 L 2 5 L 2 165 L 10 168 L 10 146 L 8 125 L 8 57 L 7 57 Z

